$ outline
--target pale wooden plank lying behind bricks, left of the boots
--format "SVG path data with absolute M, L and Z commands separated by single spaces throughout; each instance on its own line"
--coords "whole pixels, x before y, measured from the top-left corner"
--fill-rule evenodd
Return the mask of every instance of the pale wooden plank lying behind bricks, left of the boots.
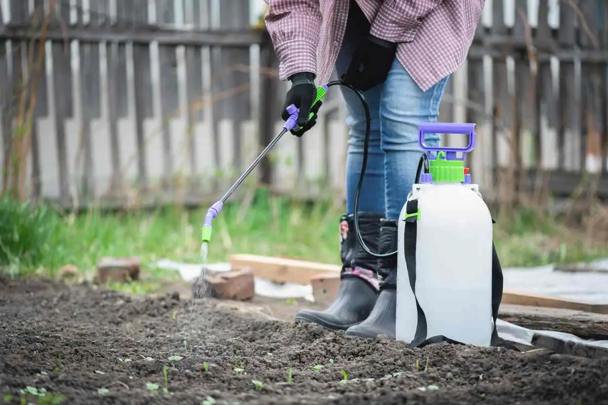
M 303 285 L 308 285 L 311 277 L 319 274 L 339 273 L 342 268 L 339 265 L 309 262 L 308 260 L 254 254 L 233 254 L 229 257 L 229 262 L 232 268 L 249 267 L 256 277 Z

